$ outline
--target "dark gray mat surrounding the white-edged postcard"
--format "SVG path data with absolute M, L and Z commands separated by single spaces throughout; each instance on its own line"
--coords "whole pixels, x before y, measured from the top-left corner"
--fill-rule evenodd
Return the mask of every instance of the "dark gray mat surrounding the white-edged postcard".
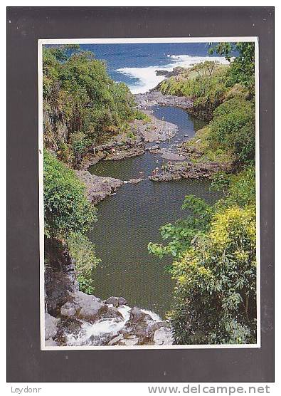
M 9 22 L 11 21 L 11 22 Z M 273 7 L 9 7 L 9 382 L 274 380 Z M 38 38 L 258 36 L 262 348 L 41 351 L 38 239 Z

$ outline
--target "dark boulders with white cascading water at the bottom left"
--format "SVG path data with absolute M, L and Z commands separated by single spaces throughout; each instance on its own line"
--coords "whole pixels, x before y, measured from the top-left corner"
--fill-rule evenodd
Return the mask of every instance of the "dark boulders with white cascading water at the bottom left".
M 122 297 L 101 298 L 79 291 L 75 264 L 65 246 L 45 246 L 45 345 L 170 345 L 166 321 L 127 305 Z

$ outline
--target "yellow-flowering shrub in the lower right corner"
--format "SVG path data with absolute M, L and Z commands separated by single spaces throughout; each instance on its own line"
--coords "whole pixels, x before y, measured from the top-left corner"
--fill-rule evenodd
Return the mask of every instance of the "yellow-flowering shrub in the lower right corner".
M 255 343 L 255 211 L 230 207 L 215 214 L 174 262 L 179 344 Z

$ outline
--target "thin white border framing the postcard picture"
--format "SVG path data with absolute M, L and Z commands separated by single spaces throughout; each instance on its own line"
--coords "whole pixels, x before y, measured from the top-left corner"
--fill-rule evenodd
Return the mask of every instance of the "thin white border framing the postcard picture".
M 44 291 L 44 208 L 43 208 L 43 58 L 44 44 L 121 44 L 121 43 L 255 43 L 255 177 L 257 224 L 257 343 L 226 345 L 102 345 L 46 346 Z M 38 40 L 38 173 L 39 173 L 39 246 L 40 246 L 40 332 L 41 350 L 144 350 L 144 349 L 238 349 L 261 348 L 260 334 L 260 139 L 259 139 L 259 51 L 258 37 L 166 37 L 166 38 L 48 38 Z

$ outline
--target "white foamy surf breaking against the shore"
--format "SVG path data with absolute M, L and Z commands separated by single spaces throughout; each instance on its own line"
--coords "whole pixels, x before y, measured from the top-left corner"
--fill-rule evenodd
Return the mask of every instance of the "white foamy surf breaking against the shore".
M 172 71 L 173 68 L 178 66 L 187 68 L 193 64 L 204 61 L 218 61 L 221 64 L 228 64 L 226 58 L 221 56 L 190 56 L 190 55 L 173 55 L 168 54 L 170 63 L 165 66 L 148 66 L 144 68 L 120 68 L 117 72 L 137 79 L 137 82 L 130 85 L 129 89 L 132 93 L 144 93 L 156 87 L 165 79 L 164 75 L 156 75 L 157 70 Z

